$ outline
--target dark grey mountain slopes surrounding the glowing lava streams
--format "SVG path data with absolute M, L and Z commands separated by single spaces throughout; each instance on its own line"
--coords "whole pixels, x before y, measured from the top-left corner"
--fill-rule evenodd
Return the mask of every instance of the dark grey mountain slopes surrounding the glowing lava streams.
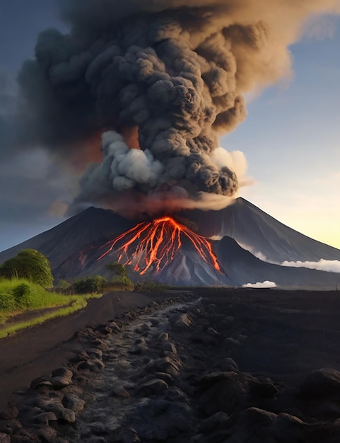
M 197 251 L 183 243 L 171 263 L 162 271 L 151 267 L 140 276 L 128 267 L 132 280 L 153 280 L 177 285 L 233 285 L 270 280 L 280 287 L 335 289 L 340 274 L 283 267 L 256 258 L 250 251 L 276 263 L 288 261 L 340 260 L 340 250 L 312 240 L 281 224 L 273 217 L 239 198 L 221 211 L 182 212 L 180 216 L 198 227 L 199 234 L 221 238 L 211 241 L 221 265 L 216 271 Z M 84 275 L 110 276 L 107 263 L 118 260 L 113 249 L 105 258 L 101 247 L 139 221 L 125 219 L 108 209 L 90 207 L 65 222 L 0 253 L 0 263 L 24 248 L 37 249 L 49 258 L 54 277 L 74 279 Z M 133 254 L 133 251 L 131 251 Z

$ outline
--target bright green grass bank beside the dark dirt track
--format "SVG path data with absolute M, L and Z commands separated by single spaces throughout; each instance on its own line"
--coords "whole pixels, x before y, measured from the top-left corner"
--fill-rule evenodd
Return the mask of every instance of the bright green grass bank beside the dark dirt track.
M 0 324 L 8 318 L 28 311 L 39 311 L 56 308 L 54 311 L 34 316 L 29 321 L 6 324 L 0 329 L 0 338 L 15 333 L 20 329 L 35 326 L 50 318 L 68 316 L 70 313 L 83 309 L 90 298 L 99 298 L 101 294 L 62 295 L 49 292 L 39 284 L 24 279 L 0 280 Z M 60 309 L 57 309 L 60 308 Z

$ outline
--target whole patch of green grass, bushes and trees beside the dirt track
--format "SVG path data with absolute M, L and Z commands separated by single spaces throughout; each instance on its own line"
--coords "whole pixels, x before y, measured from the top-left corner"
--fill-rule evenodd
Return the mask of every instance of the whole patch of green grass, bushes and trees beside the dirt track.
M 0 266 L 0 325 L 9 318 L 12 320 L 0 326 L 0 338 L 49 318 L 67 316 L 84 308 L 88 299 L 101 297 L 104 292 L 134 289 L 123 265 L 115 262 L 107 267 L 113 272 L 110 280 L 101 275 L 83 277 L 71 283 L 59 280 L 52 292 L 45 289 L 52 286 L 53 277 L 49 260 L 44 255 L 25 249 L 15 258 L 6 260 Z M 29 311 L 34 312 L 30 314 Z M 21 316 L 18 321 L 13 320 L 23 313 L 27 314 L 25 320 Z

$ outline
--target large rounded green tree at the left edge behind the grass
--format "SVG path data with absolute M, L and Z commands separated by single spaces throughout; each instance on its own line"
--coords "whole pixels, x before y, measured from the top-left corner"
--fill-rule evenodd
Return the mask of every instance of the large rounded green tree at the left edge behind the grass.
M 35 249 L 23 249 L 16 257 L 6 260 L 0 266 L 0 275 L 6 278 L 26 278 L 44 287 L 53 285 L 49 260 Z

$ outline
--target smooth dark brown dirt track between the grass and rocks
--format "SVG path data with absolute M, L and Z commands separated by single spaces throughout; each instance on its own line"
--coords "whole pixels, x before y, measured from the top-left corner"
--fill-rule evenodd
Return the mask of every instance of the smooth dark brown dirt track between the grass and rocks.
M 69 316 L 53 318 L 42 325 L 1 338 L 0 408 L 6 406 L 13 391 L 25 389 L 36 376 L 48 374 L 55 367 L 66 364 L 74 347 L 70 339 L 78 330 L 110 321 L 115 315 L 146 306 L 154 299 L 172 296 L 172 292 L 109 292 L 100 299 L 90 299 L 85 309 Z

